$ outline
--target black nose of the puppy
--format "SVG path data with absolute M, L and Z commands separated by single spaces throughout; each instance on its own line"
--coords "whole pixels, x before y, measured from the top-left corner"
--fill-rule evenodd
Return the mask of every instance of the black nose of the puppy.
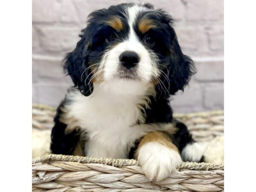
M 131 67 L 134 67 L 137 63 L 139 63 L 140 57 L 134 51 L 125 51 L 122 52 L 122 54 L 119 56 L 119 61 L 124 67 L 130 69 Z

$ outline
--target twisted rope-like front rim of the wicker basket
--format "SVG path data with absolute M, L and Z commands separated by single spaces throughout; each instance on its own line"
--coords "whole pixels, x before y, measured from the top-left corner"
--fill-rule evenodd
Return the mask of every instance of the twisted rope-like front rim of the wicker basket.
M 96 157 L 82 157 L 73 155 L 62 155 L 62 154 L 45 154 L 38 159 L 32 161 L 33 164 L 46 163 L 49 161 L 68 161 L 77 163 L 98 163 L 105 164 L 114 167 L 122 166 L 140 166 L 137 160 L 134 159 L 114 159 L 114 158 L 96 158 Z M 211 164 L 211 163 L 196 163 L 196 162 L 183 162 L 180 164 L 180 169 L 190 169 L 197 171 L 208 171 L 208 170 L 224 170 L 224 165 Z

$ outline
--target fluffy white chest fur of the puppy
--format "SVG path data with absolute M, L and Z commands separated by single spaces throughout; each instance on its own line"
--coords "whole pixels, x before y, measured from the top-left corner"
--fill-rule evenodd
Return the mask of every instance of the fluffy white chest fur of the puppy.
M 139 97 L 114 96 L 95 87 L 88 97 L 74 91 L 67 98 L 72 100 L 67 106 L 70 115 L 87 132 L 85 153 L 89 157 L 127 158 L 134 141 L 155 130 L 152 125 L 136 124 L 144 120 Z

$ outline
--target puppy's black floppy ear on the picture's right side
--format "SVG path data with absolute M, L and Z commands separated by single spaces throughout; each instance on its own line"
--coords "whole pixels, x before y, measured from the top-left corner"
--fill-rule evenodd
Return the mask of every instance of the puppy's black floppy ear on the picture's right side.
M 178 90 L 184 90 L 191 76 L 196 73 L 192 59 L 182 53 L 174 29 L 170 44 L 170 60 L 165 72 L 168 78 L 161 77 L 163 84 L 169 92 L 165 93 L 165 97 L 169 97 L 169 94 L 175 95 Z

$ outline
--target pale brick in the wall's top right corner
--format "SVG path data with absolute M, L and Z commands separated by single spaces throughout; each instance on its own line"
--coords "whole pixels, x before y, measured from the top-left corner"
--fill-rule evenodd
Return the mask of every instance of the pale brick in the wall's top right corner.
M 192 21 L 223 21 L 223 0 L 186 0 L 186 19 Z

